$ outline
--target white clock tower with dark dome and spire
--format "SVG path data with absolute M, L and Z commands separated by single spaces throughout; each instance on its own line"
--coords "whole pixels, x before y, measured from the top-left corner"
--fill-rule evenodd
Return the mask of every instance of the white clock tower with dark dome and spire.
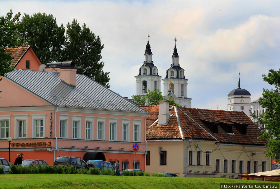
M 248 90 L 240 88 L 240 77 L 238 78 L 238 88 L 232 90 L 228 95 L 228 111 L 242 111 L 247 116 L 250 115 L 251 108 L 251 94 Z

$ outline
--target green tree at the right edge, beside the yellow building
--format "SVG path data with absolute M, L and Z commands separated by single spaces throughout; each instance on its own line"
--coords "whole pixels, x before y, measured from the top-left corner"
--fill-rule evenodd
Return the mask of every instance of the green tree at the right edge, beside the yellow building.
M 264 81 L 274 85 L 274 89 L 263 89 L 263 95 L 259 98 L 259 104 L 266 107 L 265 114 L 261 114 L 261 122 L 265 130 L 259 139 L 267 139 L 270 147 L 265 155 L 270 158 L 280 159 L 280 69 L 269 70 L 268 76 L 263 75 Z

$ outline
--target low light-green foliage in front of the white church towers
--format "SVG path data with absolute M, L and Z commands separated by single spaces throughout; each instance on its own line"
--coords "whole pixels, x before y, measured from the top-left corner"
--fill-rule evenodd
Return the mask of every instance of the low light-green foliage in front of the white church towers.
M 135 95 L 132 98 L 132 102 L 138 106 L 143 106 L 145 104 L 147 105 L 158 105 L 160 100 L 167 100 L 169 101 L 169 105 L 173 105 L 175 104 L 176 106 L 182 107 L 180 104 L 175 103 L 174 99 L 172 99 L 171 97 L 169 99 L 166 99 L 165 97 L 163 97 L 161 95 L 161 91 L 160 90 L 153 90 L 150 91 L 148 89 L 148 92 L 146 94 L 146 96 L 142 95 Z

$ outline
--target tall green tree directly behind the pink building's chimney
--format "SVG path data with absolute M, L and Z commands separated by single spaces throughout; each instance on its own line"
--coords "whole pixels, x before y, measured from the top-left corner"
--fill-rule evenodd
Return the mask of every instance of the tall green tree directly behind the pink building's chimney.
M 110 72 L 104 72 L 104 62 L 99 62 L 103 47 L 100 37 L 96 37 L 85 24 L 81 27 L 74 18 L 71 24 L 67 24 L 66 47 L 60 61 L 75 61 L 78 74 L 84 74 L 110 88 Z

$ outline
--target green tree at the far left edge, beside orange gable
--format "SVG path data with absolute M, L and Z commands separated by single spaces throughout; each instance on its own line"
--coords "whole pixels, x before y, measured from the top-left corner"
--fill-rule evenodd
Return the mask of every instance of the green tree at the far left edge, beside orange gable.
M 10 10 L 6 16 L 0 18 L 0 76 L 6 76 L 8 72 L 14 70 L 14 67 L 10 67 L 13 57 L 6 47 L 15 47 L 19 44 L 16 24 L 21 13 L 17 13 L 13 18 L 12 14 Z

